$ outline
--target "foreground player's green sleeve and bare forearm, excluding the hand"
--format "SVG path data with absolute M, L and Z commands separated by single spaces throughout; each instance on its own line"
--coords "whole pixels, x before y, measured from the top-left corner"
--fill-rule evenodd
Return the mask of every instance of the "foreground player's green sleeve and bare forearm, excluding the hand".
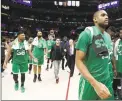
M 90 37 L 87 33 L 82 32 L 79 36 L 77 45 L 76 45 L 76 66 L 80 73 L 90 82 L 91 85 L 94 85 L 96 80 L 88 71 L 87 67 L 84 65 L 83 60 L 86 56 L 86 52 L 88 51 L 88 47 L 90 44 Z

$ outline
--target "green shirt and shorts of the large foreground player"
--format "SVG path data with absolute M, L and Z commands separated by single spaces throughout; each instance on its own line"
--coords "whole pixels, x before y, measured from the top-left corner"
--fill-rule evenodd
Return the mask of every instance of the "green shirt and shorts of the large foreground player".
M 100 51 L 103 48 L 108 51 L 108 48 L 110 48 L 111 38 L 107 33 L 102 34 L 102 32 L 97 27 L 93 26 L 92 28 L 94 37 L 92 38 L 90 30 L 84 30 L 79 36 L 76 49 L 86 53 L 86 57 L 83 60 L 85 66 L 97 81 L 107 86 L 110 93 L 112 94 L 112 97 L 109 99 L 113 100 L 113 89 L 108 64 L 109 54 L 100 57 L 96 53 L 98 49 Z M 102 36 L 103 39 L 99 39 L 99 36 Z M 93 41 L 95 38 L 96 40 Z M 94 88 L 83 76 L 80 78 L 78 93 L 79 100 L 100 99 Z

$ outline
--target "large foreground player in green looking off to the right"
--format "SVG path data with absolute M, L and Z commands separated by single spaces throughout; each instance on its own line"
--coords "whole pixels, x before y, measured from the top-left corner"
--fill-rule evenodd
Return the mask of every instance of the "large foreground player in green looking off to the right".
M 104 10 L 93 16 L 95 26 L 84 30 L 76 44 L 76 66 L 81 73 L 80 100 L 114 100 L 109 72 L 111 38 L 105 32 L 108 14 Z

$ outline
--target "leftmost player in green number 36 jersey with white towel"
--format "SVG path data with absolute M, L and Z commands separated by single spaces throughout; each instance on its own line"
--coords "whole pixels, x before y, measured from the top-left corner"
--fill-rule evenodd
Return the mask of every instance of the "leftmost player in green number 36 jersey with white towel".
M 28 42 L 25 40 L 24 32 L 20 31 L 18 37 L 14 40 L 12 47 L 8 49 L 8 54 L 6 55 L 3 67 L 7 67 L 8 60 L 13 52 L 12 58 L 12 72 L 13 79 L 15 81 L 15 90 L 19 89 L 18 74 L 21 73 L 21 92 L 25 91 L 24 82 L 25 82 L 25 73 L 28 71 L 28 54 L 34 61 L 37 62 L 37 59 L 31 53 L 29 49 Z

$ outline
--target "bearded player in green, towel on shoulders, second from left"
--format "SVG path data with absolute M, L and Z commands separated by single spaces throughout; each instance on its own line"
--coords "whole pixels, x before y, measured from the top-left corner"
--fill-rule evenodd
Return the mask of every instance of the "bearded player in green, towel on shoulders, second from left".
M 46 41 L 42 37 L 42 32 L 37 32 L 37 37 L 34 38 L 32 42 L 32 53 L 38 59 L 38 62 L 33 62 L 34 67 L 34 79 L 33 82 L 36 82 L 37 79 L 37 67 L 38 67 L 38 80 L 42 81 L 41 79 L 41 65 L 44 63 L 44 52 L 46 51 Z

